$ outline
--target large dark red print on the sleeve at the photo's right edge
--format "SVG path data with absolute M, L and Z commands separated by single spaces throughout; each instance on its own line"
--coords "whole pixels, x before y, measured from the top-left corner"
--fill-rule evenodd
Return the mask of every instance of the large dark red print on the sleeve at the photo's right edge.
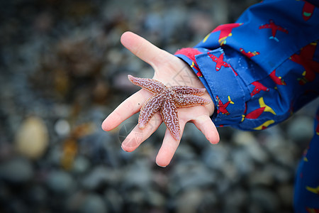
M 291 55 L 290 59 L 293 62 L 302 65 L 305 71 L 303 72 L 303 77 L 299 80 L 299 84 L 303 85 L 307 82 L 312 82 L 315 80 L 316 73 L 319 72 L 319 62 L 313 60 L 313 55 L 315 54 L 315 49 L 317 48 L 318 43 L 310 43 L 304 48 L 301 48 L 300 53 Z

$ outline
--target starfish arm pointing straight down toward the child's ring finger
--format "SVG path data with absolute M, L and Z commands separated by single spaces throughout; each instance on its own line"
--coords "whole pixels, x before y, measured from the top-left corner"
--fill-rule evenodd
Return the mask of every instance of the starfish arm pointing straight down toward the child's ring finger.
M 181 129 L 179 128 L 179 116 L 174 101 L 172 99 L 164 101 L 160 112 L 167 129 L 172 133 L 173 138 L 179 141 L 181 139 Z

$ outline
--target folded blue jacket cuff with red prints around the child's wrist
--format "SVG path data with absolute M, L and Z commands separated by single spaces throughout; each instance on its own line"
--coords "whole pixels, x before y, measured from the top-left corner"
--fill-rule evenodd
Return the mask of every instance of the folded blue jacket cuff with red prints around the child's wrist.
M 175 55 L 191 66 L 211 95 L 215 104 L 212 119 L 216 126 L 240 124 L 249 90 L 223 49 L 185 48 Z

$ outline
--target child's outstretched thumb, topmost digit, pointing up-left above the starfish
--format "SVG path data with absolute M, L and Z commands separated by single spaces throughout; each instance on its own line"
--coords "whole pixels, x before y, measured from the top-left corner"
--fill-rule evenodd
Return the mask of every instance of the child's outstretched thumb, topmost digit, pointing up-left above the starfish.
M 130 50 L 134 55 L 138 56 L 148 64 L 155 67 L 160 62 L 159 57 L 162 57 L 164 50 L 157 48 L 157 46 L 150 43 L 145 38 L 140 37 L 132 32 L 125 32 L 121 36 L 121 43 Z

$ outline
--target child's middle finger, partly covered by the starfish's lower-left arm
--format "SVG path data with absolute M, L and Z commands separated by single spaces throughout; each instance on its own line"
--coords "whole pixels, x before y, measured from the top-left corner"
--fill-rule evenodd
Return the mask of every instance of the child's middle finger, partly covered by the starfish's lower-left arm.
M 162 117 L 159 113 L 152 116 L 150 122 L 145 126 L 144 129 L 140 129 L 137 126 L 128 134 L 122 143 L 122 149 L 127 152 L 134 151 L 140 144 L 149 138 L 159 126 L 162 124 Z

